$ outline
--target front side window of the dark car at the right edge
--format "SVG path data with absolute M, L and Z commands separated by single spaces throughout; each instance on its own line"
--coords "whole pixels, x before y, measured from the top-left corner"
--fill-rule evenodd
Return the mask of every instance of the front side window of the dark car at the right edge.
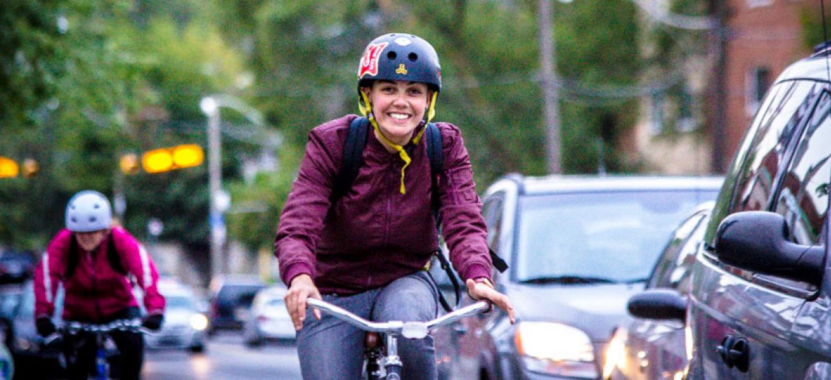
M 794 158 L 784 173 L 774 205 L 788 222 L 789 238 L 799 244 L 824 244 L 821 232 L 829 208 L 831 180 L 831 97 L 826 93 L 805 126 Z

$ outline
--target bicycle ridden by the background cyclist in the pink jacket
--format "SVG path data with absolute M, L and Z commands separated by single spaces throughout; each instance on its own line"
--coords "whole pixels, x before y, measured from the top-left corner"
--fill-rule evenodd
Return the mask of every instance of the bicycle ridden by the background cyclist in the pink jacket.
M 95 338 L 96 373 L 93 374 L 92 378 L 95 380 L 106 380 L 107 378 L 110 378 L 111 369 L 108 359 L 119 354 L 116 343 L 110 335 L 113 331 L 125 331 L 142 334 L 150 333 L 149 329 L 145 329 L 141 326 L 141 319 L 137 318 L 116 319 L 108 324 L 91 324 L 86 322 L 69 321 L 61 326 L 55 334 L 52 334 L 52 337 L 47 338 L 45 343 L 47 346 L 56 346 L 58 344 L 57 341 L 61 339 L 64 334 L 71 335 L 73 337 L 79 337 L 81 334 L 88 334 L 86 337 L 82 337 L 82 339 L 71 339 L 73 344 L 71 353 L 77 353 L 78 348 L 81 348 L 87 342 L 86 339 Z M 66 358 L 65 356 L 66 353 L 61 350 L 61 357 L 63 357 L 61 363 L 68 368 L 67 361 L 71 358 Z

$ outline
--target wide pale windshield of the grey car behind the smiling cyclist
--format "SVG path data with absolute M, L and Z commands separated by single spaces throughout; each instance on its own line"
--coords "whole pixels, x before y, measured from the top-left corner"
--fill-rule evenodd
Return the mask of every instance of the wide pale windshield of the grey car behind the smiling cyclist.
M 581 192 L 521 197 L 517 280 L 646 280 L 675 228 L 716 191 Z

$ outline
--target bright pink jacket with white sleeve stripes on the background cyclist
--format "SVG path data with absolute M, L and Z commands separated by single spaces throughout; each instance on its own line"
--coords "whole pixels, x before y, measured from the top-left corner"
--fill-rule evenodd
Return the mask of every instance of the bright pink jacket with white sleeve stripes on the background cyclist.
M 49 243 L 35 271 L 35 318 L 52 316 L 55 295 L 60 283 L 64 287 L 62 318 L 89 322 L 106 321 L 128 307 L 138 306 L 132 292 L 130 275 L 144 290 L 144 304 L 148 314 L 161 314 L 165 298 L 159 294 L 156 283 L 159 273 L 145 248 L 130 233 L 114 227 L 94 254 L 77 249 L 77 266 L 65 278 L 70 254 L 69 230 L 61 230 Z M 112 238 L 121 266 L 128 275 L 119 273 L 107 259 L 108 239 Z

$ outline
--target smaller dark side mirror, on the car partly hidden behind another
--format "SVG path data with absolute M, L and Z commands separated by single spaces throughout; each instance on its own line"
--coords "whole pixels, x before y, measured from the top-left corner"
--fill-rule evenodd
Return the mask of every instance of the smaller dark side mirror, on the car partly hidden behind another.
M 674 289 L 648 289 L 632 295 L 629 314 L 644 319 L 686 319 L 686 297 Z

